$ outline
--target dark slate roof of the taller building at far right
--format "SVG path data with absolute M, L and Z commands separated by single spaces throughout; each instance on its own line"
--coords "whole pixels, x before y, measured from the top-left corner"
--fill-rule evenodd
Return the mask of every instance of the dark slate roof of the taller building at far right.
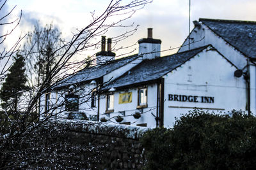
M 206 18 L 199 21 L 244 55 L 256 59 L 256 22 Z

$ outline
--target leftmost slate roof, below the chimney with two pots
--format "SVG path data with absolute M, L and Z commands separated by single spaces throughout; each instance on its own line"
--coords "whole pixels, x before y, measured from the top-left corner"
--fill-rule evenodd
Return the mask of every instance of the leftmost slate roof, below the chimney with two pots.
M 75 83 L 95 80 L 97 78 L 100 78 L 110 73 L 111 71 L 114 71 L 115 69 L 118 69 L 119 67 L 124 66 L 128 62 L 131 62 L 132 60 L 135 60 L 138 57 L 139 55 L 135 54 L 135 55 L 121 58 L 121 59 L 112 60 L 104 64 L 99 64 L 97 66 L 84 68 L 81 71 L 77 72 L 76 74 L 69 76 L 65 80 L 61 81 L 54 88 L 60 88 L 60 87 L 64 87 L 64 86 L 75 84 Z

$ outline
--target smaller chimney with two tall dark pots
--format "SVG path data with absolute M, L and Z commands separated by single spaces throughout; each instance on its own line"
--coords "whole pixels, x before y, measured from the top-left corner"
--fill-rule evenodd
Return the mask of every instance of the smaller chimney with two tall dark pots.
M 111 52 L 111 38 L 108 38 L 108 51 L 106 51 L 106 36 L 101 36 L 101 52 L 96 53 L 96 64 L 104 64 L 115 59 L 116 54 Z

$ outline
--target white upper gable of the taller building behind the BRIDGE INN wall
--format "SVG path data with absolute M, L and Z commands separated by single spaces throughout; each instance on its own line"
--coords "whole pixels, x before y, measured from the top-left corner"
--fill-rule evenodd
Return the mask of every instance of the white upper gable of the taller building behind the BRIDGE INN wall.
M 189 34 L 191 39 L 190 45 L 188 38 L 184 41 L 182 47 L 180 47 L 179 52 L 183 52 L 186 50 L 197 48 L 199 46 L 209 45 L 211 44 L 216 48 L 222 55 L 227 57 L 238 69 L 247 70 L 247 57 L 243 55 L 243 53 L 239 52 L 227 43 L 223 38 L 215 34 L 209 27 L 204 25 L 202 22 L 198 22 L 201 25 L 200 28 L 195 27 L 193 31 Z M 250 74 L 250 110 L 252 113 L 256 113 L 256 67 L 255 64 L 251 64 L 250 69 L 248 69 L 248 74 Z

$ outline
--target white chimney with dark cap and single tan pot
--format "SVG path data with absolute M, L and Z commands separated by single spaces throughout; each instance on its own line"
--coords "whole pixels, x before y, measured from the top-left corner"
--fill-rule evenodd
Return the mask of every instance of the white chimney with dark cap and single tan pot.
M 161 40 L 153 39 L 153 29 L 148 28 L 148 38 L 142 38 L 139 43 L 139 55 L 143 55 L 143 59 L 155 59 L 160 57 Z

